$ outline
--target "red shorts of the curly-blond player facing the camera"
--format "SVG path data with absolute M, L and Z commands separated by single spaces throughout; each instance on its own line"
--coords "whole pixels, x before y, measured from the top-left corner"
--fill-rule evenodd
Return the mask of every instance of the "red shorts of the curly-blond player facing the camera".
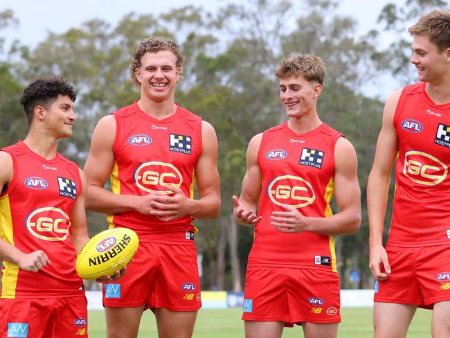
M 140 242 L 127 274 L 104 283 L 103 305 L 116 308 L 201 308 L 200 278 L 195 245 Z

